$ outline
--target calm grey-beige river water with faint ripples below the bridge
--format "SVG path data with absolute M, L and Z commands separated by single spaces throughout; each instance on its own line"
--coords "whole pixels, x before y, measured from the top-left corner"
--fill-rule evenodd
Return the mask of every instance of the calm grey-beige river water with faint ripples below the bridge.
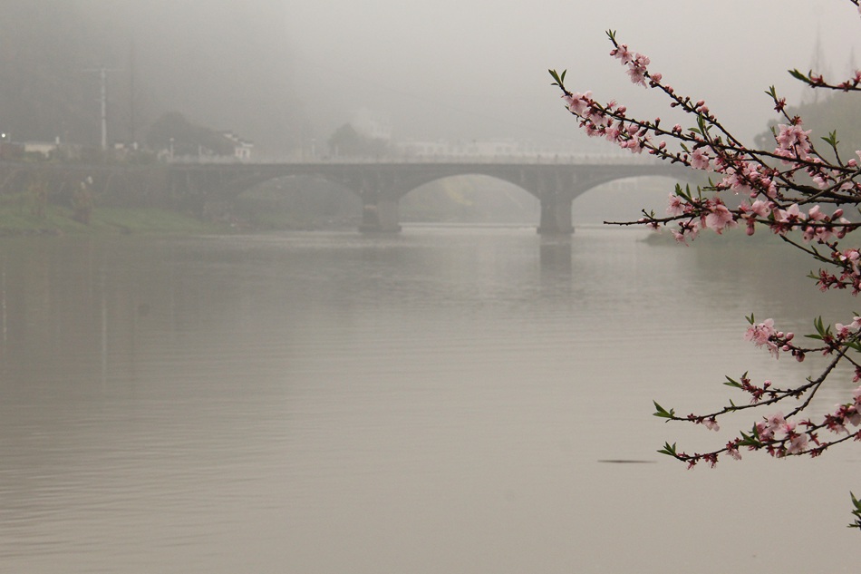
M 731 424 L 651 415 L 815 372 L 750 312 L 855 303 L 771 245 L 644 237 L 3 239 L 0 570 L 856 572 L 855 447 L 686 471 L 663 441 Z

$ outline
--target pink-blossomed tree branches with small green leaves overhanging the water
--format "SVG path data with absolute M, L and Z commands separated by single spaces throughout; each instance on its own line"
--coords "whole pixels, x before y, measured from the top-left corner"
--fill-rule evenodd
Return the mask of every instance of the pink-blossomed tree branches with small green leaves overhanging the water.
M 861 13 L 861 0 L 848 1 Z M 620 44 L 613 31 L 607 36 L 613 44 L 610 54 L 624 65 L 631 81 L 658 92 L 673 110 L 686 114 L 693 125 L 682 128 L 676 123 L 667 128 L 660 118 L 634 117 L 617 102 L 596 101 L 592 92 L 570 92 L 565 85 L 566 73 L 550 70 L 567 111 L 590 136 L 603 137 L 634 153 L 644 151 L 663 161 L 703 170 L 714 177 L 695 190 L 676 185 L 665 216 L 643 211 L 643 218 L 637 221 L 616 224 L 666 227 L 682 243 L 707 229 L 722 234 L 741 225 L 749 236 L 757 229 L 768 229 L 787 246 L 801 250 L 822 266 L 809 276 L 820 290 L 850 289 L 854 295 L 861 292 L 861 248 L 844 246 L 848 234 L 861 227 L 861 223 L 844 217 L 847 209 L 861 213 L 861 150 L 847 153 L 839 145 L 836 131 L 822 142 L 812 141 L 810 131 L 802 127 L 801 116 L 788 112 L 786 99 L 779 97 L 773 86 L 766 93 L 786 123 L 772 128 L 770 141 L 765 142 L 769 145 L 746 146 L 721 124 L 706 102 L 694 102 L 675 92 L 660 73 L 650 68 L 647 56 Z M 839 83 L 827 81 L 816 71 L 789 73 L 817 90 L 861 92 L 861 70 Z M 724 199 L 728 194 L 744 199 L 738 207 L 730 207 Z M 798 361 L 816 361 L 821 357 L 818 375 L 790 384 L 754 382 L 747 373 L 727 376 L 723 384 L 739 391 L 749 402 L 736 404 L 730 400 L 701 414 L 679 415 L 655 402 L 655 416 L 702 424 L 714 431 L 719 430 L 719 421 L 725 414 L 765 413 L 754 420 L 749 431 L 741 431 L 721 449 L 691 454 L 681 451 L 675 443 L 665 443 L 659 452 L 687 463 L 690 469 L 700 462 L 713 467 L 724 455 L 740 459 L 745 451 L 767 452 L 779 458 L 817 457 L 839 444 L 861 441 L 861 386 L 833 411 L 808 413 L 817 392 L 826 384 L 834 384 L 845 372 L 837 370 L 838 366 L 849 367 L 855 385 L 861 381 L 861 316 L 852 314 L 846 317 L 845 324 L 834 325 L 826 325 L 817 317 L 813 320 L 815 332 L 807 336 L 807 342 L 779 330 L 773 319 L 758 322 L 750 315 L 748 321 L 746 338 L 775 358 L 790 355 Z M 788 413 L 779 411 L 780 406 Z M 853 522 L 849 526 L 861 529 L 861 501 L 853 494 L 852 502 Z

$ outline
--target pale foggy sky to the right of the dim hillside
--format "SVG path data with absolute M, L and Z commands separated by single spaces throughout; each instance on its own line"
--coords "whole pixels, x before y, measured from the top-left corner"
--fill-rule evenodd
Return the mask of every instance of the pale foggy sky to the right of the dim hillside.
M 861 63 L 861 15 L 846 0 L 315 0 L 283 9 L 293 89 L 317 140 L 369 110 L 401 140 L 582 141 L 548 68 L 567 69 L 572 91 L 669 114 L 608 56 L 607 29 L 743 139 L 775 117 L 769 85 L 798 102 L 786 71 L 807 70 L 817 44 L 840 79 L 852 58 Z

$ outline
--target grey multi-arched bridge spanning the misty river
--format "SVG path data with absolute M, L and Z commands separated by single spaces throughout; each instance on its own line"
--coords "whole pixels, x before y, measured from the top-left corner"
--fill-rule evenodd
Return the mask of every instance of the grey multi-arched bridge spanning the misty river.
M 651 160 L 651 159 L 650 159 Z M 411 190 L 434 180 L 486 175 L 508 181 L 541 205 L 541 234 L 570 234 L 576 197 L 603 183 L 641 176 L 689 179 L 691 171 L 660 161 L 376 161 L 306 163 L 170 164 L 173 193 L 237 195 L 267 180 L 316 176 L 352 190 L 362 199 L 363 231 L 401 229 L 398 203 Z

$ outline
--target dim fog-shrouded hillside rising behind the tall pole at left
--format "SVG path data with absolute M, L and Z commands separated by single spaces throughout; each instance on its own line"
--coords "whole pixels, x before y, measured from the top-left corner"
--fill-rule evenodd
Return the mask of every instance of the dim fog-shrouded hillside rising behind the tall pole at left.
M 99 145 L 105 66 L 111 142 L 144 141 L 176 111 L 284 154 L 302 115 L 284 12 L 270 0 L 3 0 L 0 131 Z

